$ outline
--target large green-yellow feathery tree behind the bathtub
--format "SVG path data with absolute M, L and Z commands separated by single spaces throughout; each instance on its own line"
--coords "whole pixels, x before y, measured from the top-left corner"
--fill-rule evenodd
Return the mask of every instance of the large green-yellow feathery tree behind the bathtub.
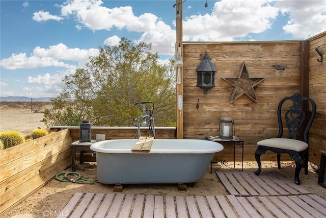
M 175 126 L 175 61 L 161 65 L 158 58 L 151 53 L 150 43 L 134 45 L 126 38 L 118 45 L 99 47 L 98 56 L 90 57 L 85 68 L 63 79 L 66 89 L 53 105 L 70 102 L 66 109 L 83 111 L 70 115 L 88 119 L 94 126 L 135 126 L 134 118 L 142 111 L 133 104 L 151 101 L 155 126 Z M 47 111 L 47 117 L 54 112 Z

